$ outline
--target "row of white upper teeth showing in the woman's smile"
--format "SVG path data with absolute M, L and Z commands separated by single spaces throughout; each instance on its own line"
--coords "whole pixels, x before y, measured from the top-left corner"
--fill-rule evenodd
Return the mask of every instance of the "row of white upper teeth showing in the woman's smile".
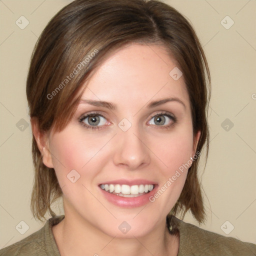
M 126 185 L 126 184 L 101 184 L 100 188 L 110 193 L 116 193 L 123 197 L 133 197 L 133 195 L 141 195 L 153 189 L 153 184 Z

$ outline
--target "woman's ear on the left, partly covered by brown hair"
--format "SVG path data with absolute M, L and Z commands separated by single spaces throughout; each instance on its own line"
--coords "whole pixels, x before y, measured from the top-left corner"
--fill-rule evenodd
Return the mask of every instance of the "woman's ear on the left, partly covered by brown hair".
M 42 155 L 42 162 L 49 168 L 53 168 L 52 158 L 48 147 L 48 132 L 41 132 L 38 128 L 38 121 L 36 117 L 30 118 L 31 129 L 36 140 L 36 144 Z

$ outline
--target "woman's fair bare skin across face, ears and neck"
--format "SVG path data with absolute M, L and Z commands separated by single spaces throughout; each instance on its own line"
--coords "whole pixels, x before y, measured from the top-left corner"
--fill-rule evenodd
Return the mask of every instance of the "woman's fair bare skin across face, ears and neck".
M 200 132 L 193 137 L 183 77 L 175 81 L 169 75 L 175 66 L 160 45 L 130 44 L 102 62 L 81 97 L 111 101 L 115 110 L 81 103 L 71 122 L 56 133 L 40 133 L 31 120 L 43 163 L 55 169 L 63 191 L 65 218 L 52 227 L 61 256 L 177 255 L 179 239 L 169 234 L 165 218 L 181 193 L 187 169 L 146 206 L 116 206 L 98 187 L 106 180 L 142 178 L 160 188 L 195 154 Z M 146 107 L 166 97 L 177 97 L 185 106 L 170 101 Z M 91 111 L 104 116 L 99 116 L 100 129 L 85 128 L 78 121 Z M 177 122 L 162 112 L 171 113 Z M 151 117 L 156 114 L 165 117 L 164 124 L 157 125 Z M 118 127 L 123 118 L 131 123 L 125 132 Z M 88 118 L 83 122 L 88 124 Z M 66 177 L 72 169 L 80 174 L 75 183 Z M 126 234 L 118 229 L 123 221 L 131 226 Z

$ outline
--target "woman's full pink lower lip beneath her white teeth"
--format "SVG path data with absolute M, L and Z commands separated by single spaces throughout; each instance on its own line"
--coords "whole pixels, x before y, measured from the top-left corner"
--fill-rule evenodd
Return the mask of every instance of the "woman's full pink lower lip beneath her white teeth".
M 155 193 L 157 186 L 158 185 L 154 185 L 154 188 L 150 192 L 140 195 L 140 196 L 136 196 L 136 197 L 123 197 L 123 196 L 109 193 L 109 192 L 101 189 L 100 187 L 99 187 L 99 189 L 102 191 L 103 195 L 109 202 L 111 202 L 117 206 L 120 206 L 120 207 L 133 208 L 133 207 L 142 206 L 142 205 L 150 202 L 149 197 Z

